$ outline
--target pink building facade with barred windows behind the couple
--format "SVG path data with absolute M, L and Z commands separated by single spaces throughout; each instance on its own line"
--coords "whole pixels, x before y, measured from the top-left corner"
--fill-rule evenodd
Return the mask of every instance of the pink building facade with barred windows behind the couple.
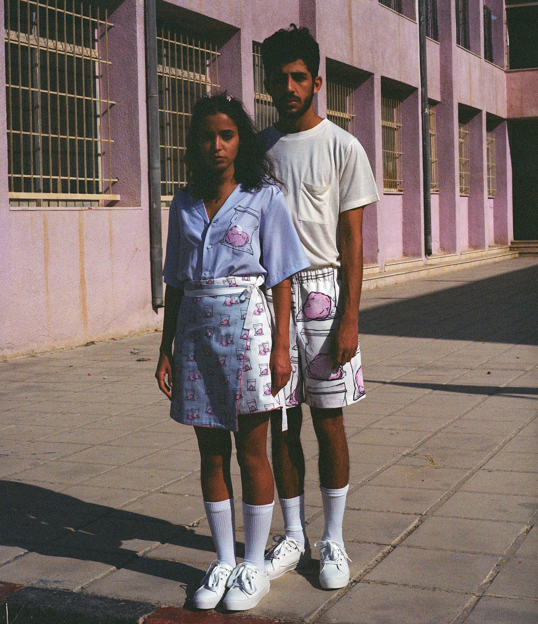
M 67 11 L 74 4 L 65 1 L 64 12 L 75 14 L 73 8 Z M 71 42 L 66 39 L 61 43 L 58 31 L 54 36 L 51 32 L 42 34 L 46 19 L 42 11 L 48 9 L 39 6 L 45 6 L 45 0 L 11 0 L 7 7 L 8 2 L 5 0 L 4 4 L 6 47 L 0 54 L 0 80 L 7 85 L 6 99 L 0 100 L 0 163 L 1 170 L 8 173 L 4 173 L 0 184 L 0 354 L 9 358 L 157 329 L 162 324 L 162 310 L 155 313 L 152 309 L 150 284 L 144 2 L 100 4 L 99 22 L 95 21 L 97 4 L 92 5 L 91 15 L 84 14 L 86 9 L 82 9 L 80 21 L 89 20 L 88 32 L 94 33 L 89 37 L 95 37 L 95 41 L 85 43 L 82 35 L 80 45 L 76 33 Z M 432 2 L 429 0 L 430 8 Z M 429 104 L 435 118 L 434 132 L 430 127 L 435 177 L 431 195 L 434 258 L 461 255 L 469 249 L 488 250 L 512 240 L 504 4 L 502 0 L 486 1 L 489 15 L 494 18 L 488 22 L 489 31 L 488 24 L 484 25 L 489 17 L 482 0 L 469 0 L 468 4 L 462 0 L 438 0 L 435 4 L 436 16 L 430 12 L 431 37 L 427 40 Z M 26 32 L 18 35 L 12 16 L 16 11 L 22 14 L 21 6 L 29 17 L 24 25 Z M 36 12 L 34 22 L 41 16 L 41 26 L 32 22 L 32 7 Z M 8 8 L 11 17 L 6 17 Z M 105 9 L 106 18 L 102 17 Z M 365 262 L 372 270 L 384 271 L 392 261 L 401 258 L 426 261 L 419 36 L 414 1 L 159 0 L 157 13 L 162 27 L 159 32 L 166 32 L 160 39 L 162 84 L 175 80 L 177 86 L 182 79 L 186 89 L 181 97 L 177 90 L 175 94 L 166 91 L 170 102 L 160 105 L 161 130 L 165 134 L 161 140 L 164 243 L 169 201 L 166 198 L 177 188 L 180 174 L 178 177 L 172 169 L 164 173 L 163 168 L 181 167 L 181 150 L 174 151 L 174 142 L 182 140 L 181 120 L 188 120 L 185 102 L 196 95 L 196 89 L 192 94 L 188 90 L 189 80 L 197 80 L 198 87 L 202 84 L 209 89 L 218 85 L 227 89 L 243 100 L 257 120 L 262 119 L 265 106 L 269 112 L 263 119 L 267 122 L 271 116 L 270 102 L 260 93 L 253 51 L 276 29 L 295 22 L 308 26 L 315 34 L 320 43 L 321 76 L 325 84 L 333 85 L 329 91 L 324 85 L 318 95 L 318 113 L 348 124 L 346 127 L 366 149 L 378 183 L 381 200 L 369 207 L 364 217 Z M 52 24 L 53 18 L 48 19 Z M 37 32 L 37 27 L 42 30 Z M 84 26 L 81 28 L 84 30 Z M 184 49 L 185 54 L 189 54 L 190 48 L 177 47 L 180 37 L 195 42 L 192 67 L 185 69 L 184 63 L 179 67 L 177 59 L 175 66 L 170 59 L 165 62 L 169 54 L 165 47 L 172 49 L 172 36 L 175 50 Z M 102 59 L 99 41 L 101 47 L 103 41 L 106 43 L 107 59 Z M 26 56 L 21 46 L 29 50 Z M 196 54 L 201 54 L 200 48 L 206 54 L 203 64 L 195 60 Z M 74 164 L 69 175 L 65 173 L 69 168 L 67 161 L 52 154 L 54 145 L 60 145 L 60 152 L 67 149 L 69 141 L 69 145 L 78 146 L 82 139 L 77 132 L 87 133 L 84 124 L 88 122 L 84 117 L 84 121 L 76 122 L 75 130 L 61 130 L 64 122 L 58 104 L 57 130 L 51 130 L 52 122 L 46 124 L 44 118 L 47 111 L 51 115 L 52 105 L 47 104 L 49 109 L 45 110 L 44 102 L 54 97 L 60 102 L 61 79 L 55 86 L 51 77 L 51 59 L 58 54 L 78 55 L 82 57 L 82 66 L 84 62 L 88 67 L 99 66 L 95 71 L 88 70 L 82 87 L 81 71 L 77 84 L 86 92 L 66 95 L 66 101 L 71 97 L 73 102 L 87 102 L 87 108 L 81 104 L 77 109 L 79 118 L 83 114 L 91 116 L 99 100 L 99 119 L 95 124 L 101 124 L 100 134 L 95 134 L 92 125 L 90 138 L 84 143 L 90 147 L 82 147 L 82 151 L 79 147 L 71 148 L 74 155 L 67 159 L 71 158 Z M 218 78 L 213 67 L 217 58 Z M 17 70 L 19 59 L 27 59 L 29 64 L 26 87 L 22 77 L 14 78 L 17 71 L 24 74 L 24 68 Z M 37 69 L 32 66 L 32 59 Z M 97 78 L 99 84 L 94 88 Z M 105 79 L 104 107 L 100 99 Z M 526 90 L 524 79 L 517 79 L 522 94 Z M 88 80 L 93 81 L 91 88 Z M 340 91 L 336 87 L 341 87 Z M 71 87 L 62 88 L 67 93 Z M 17 109 L 14 94 L 23 92 L 27 93 L 27 103 Z M 338 93 L 343 96 L 338 97 Z M 22 100 L 23 95 L 20 97 Z M 20 114 L 24 105 L 32 118 L 26 134 L 25 120 Z M 517 106 L 517 101 L 512 105 Z M 183 112 L 178 112 L 180 108 Z M 169 109 L 174 109 L 172 117 L 176 120 L 170 124 L 166 117 Z M 17 110 L 21 117 L 19 126 L 14 114 Z M 65 111 L 66 118 L 71 119 L 69 106 Z M 58 139 L 59 143 L 54 144 L 54 137 L 62 132 L 66 133 L 67 142 L 62 144 Z M 22 147 L 16 147 L 17 140 Z M 47 140 L 52 143 L 47 144 Z M 26 148 L 24 141 L 28 142 Z M 92 162 L 98 163 L 100 171 L 111 172 L 107 180 L 101 175 L 99 184 L 92 173 L 92 193 L 87 192 L 88 180 L 83 180 L 84 184 L 79 180 L 88 177 L 84 154 L 88 160 L 94 158 Z M 17 165 L 17 159 L 25 157 L 34 167 L 26 174 L 21 173 L 20 163 Z M 59 173 L 53 175 L 52 163 L 56 160 L 64 165 L 55 165 L 54 171 Z M 167 175 L 174 183 L 165 183 Z M 70 178 L 67 186 L 62 186 L 62 176 Z M 49 178 L 59 182 L 50 182 L 47 187 Z M 77 178 L 73 184 L 71 178 Z

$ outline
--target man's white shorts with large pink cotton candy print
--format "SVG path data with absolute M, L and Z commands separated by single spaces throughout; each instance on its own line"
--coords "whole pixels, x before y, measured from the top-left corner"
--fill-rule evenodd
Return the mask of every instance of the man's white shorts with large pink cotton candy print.
M 340 323 L 340 288 L 332 267 L 300 271 L 291 278 L 288 407 L 302 402 L 311 407 L 345 407 L 364 397 L 360 348 L 344 366 L 335 369 L 330 360 L 333 333 Z M 270 292 L 267 301 L 271 308 Z

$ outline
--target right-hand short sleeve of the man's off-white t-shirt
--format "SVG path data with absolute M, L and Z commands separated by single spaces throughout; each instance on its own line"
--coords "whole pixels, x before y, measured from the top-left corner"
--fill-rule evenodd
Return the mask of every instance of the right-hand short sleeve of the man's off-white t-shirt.
M 358 140 L 353 140 L 340 173 L 340 212 L 374 202 L 379 202 L 378 187 L 368 156 Z

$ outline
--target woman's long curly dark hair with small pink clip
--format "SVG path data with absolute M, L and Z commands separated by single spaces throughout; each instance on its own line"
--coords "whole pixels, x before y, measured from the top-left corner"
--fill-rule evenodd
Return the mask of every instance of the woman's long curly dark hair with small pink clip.
M 214 190 L 213 176 L 200 158 L 198 135 L 203 120 L 217 113 L 228 115 L 237 125 L 239 149 L 234 162 L 235 182 L 245 191 L 260 190 L 273 183 L 283 187 L 242 102 L 223 91 L 215 95 L 205 95 L 192 109 L 183 160 L 187 167 L 188 189 L 193 196 L 200 198 Z

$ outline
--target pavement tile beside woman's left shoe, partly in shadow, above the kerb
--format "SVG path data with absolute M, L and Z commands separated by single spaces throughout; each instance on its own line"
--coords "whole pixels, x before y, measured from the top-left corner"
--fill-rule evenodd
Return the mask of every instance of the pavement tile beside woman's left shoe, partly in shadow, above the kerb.
M 205 568 L 198 566 L 137 557 L 127 567 L 95 581 L 84 592 L 181 607 L 187 588 L 192 592 L 204 573 Z

